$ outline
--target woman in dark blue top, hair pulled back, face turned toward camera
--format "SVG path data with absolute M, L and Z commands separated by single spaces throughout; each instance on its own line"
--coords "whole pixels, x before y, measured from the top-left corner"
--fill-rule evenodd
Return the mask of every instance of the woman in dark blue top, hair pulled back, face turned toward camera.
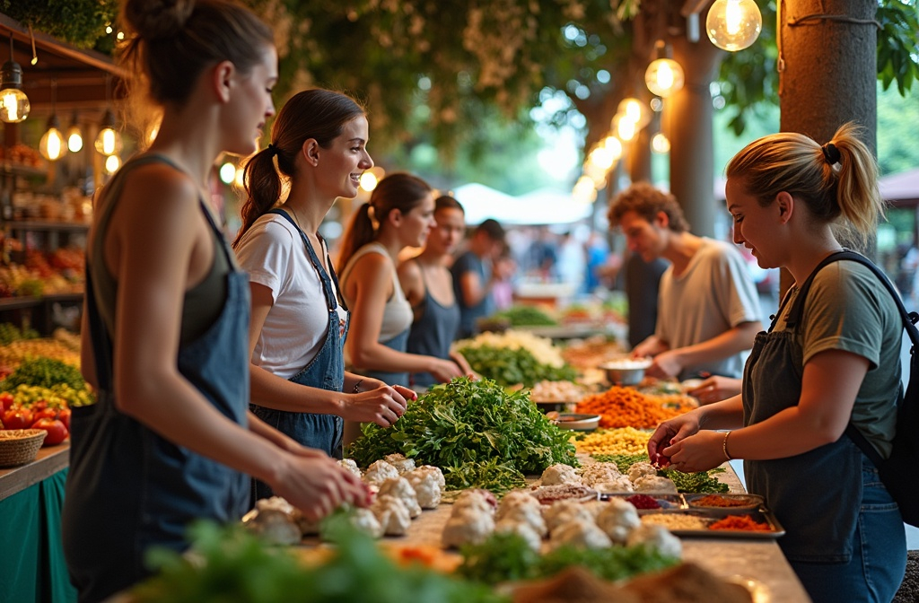
M 448 267 L 466 232 L 465 213 L 457 199 L 445 195 L 434 202 L 434 220 L 436 226 L 427 235 L 421 254 L 398 268 L 399 281 L 414 313 L 406 349 L 412 354 L 448 358 L 471 374 L 466 358 L 450 350 L 459 332 L 459 304 Z M 409 379 L 413 387 L 437 383 L 429 372 L 413 372 Z

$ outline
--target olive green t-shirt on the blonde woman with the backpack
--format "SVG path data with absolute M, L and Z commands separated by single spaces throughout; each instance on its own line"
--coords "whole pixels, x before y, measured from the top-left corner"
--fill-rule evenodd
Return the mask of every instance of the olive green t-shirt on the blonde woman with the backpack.
M 797 296 L 797 288 L 792 288 L 777 331 L 785 330 Z M 902 330 L 900 311 L 878 277 L 870 268 L 846 260 L 823 267 L 814 277 L 799 323 L 805 365 L 828 349 L 868 359 L 852 423 L 884 458 L 891 454 L 896 429 Z

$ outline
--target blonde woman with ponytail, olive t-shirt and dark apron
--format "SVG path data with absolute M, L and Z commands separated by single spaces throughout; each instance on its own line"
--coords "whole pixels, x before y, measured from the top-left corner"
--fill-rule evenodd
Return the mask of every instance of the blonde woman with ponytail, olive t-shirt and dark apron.
M 845 434 L 850 424 L 886 458 L 900 391 L 902 318 L 871 270 L 839 259 L 837 232 L 858 244 L 883 215 L 874 157 L 845 124 L 822 144 L 784 132 L 751 142 L 727 168 L 734 242 L 795 279 L 769 331 L 756 336 L 743 393 L 665 421 L 652 460 L 680 471 L 743 459 L 750 492 L 766 496 L 778 540 L 808 594 L 891 601 L 906 567 L 896 503 Z M 811 275 L 796 323 L 790 315 Z M 733 431 L 714 430 L 733 429 Z

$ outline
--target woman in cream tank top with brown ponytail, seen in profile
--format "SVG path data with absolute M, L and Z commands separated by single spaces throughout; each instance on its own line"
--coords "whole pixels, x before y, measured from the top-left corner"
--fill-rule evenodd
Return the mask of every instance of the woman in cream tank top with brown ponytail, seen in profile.
M 405 351 L 413 314 L 396 274 L 397 258 L 405 247 L 424 245 L 433 226 L 431 188 L 404 173 L 380 180 L 348 225 L 338 259 L 352 313 L 346 352 L 363 375 L 408 385 L 410 372 L 429 372 L 437 381 L 462 374 L 452 360 Z

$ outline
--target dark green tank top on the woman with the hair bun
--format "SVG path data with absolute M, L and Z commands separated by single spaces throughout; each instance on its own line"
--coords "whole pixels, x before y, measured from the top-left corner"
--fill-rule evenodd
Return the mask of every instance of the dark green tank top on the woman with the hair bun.
M 116 202 L 121 196 L 124 179 L 132 169 L 140 165 L 161 163 L 169 165 L 179 172 L 180 167 L 162 155 L 142 155 L 123 165 L 119 172 L 102 189 L 97 208 L 102 208 L 103 213 L 96 222 L 96 231 L 90 247 L 89 267 L 93 272 L 93 286 L 96 293 L 96 304 L 102 320 L 105 321 L 109 333 L 115 333 L 115 300 L 118 297 L 118 280 L 108 272 L 105 263 L 105 240 L 108 231 L 108 222 Z M 204 200 L 200 202 L 203 204 Z M 202 211 L 206 211 L 204 207 Z M 209 229 L 210 232 L 210 229 Z M 216 234 L 212 235 L 214 245 L 214 260 L 208 275 L 198 285 L 185 292 L 182 305 L 182 330 L 180 345 L 184 346 L 202 336 L 211 324 L 220 316 L 223 302 L 227 295 L 227 274 L 230 266 L 226 254 L 221 248 L 221 241 Z

